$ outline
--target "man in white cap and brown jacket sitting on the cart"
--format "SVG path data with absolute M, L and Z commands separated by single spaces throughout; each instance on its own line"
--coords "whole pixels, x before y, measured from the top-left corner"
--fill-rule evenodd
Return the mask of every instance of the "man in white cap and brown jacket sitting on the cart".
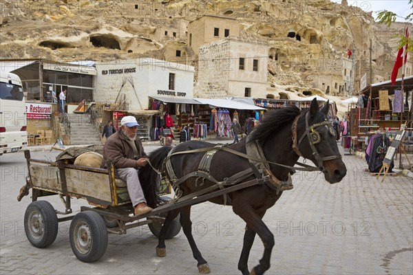
M 139 125 L 136 118 L 125 116 L 120 124 L 120 131 L 111 135 L 103 146 L 102 167 L 107 168 L 107 161 L 114 164 L 116 177 L 126 181 L 135 214 L 145 214 L 153 209 L 147 206 L 138 168 L 147 165 L 148 156 L 143 150 L 142 140 L 136 135 Z

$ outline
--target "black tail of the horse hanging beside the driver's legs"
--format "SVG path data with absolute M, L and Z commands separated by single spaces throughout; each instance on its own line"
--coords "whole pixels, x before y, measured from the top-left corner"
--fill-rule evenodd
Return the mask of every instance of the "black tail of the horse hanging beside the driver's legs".
M 171 146 L 162 146 L 156 149 L 156 151 L 149 153 L 149 161 L 151 162 L 153 168 L 161 170 L 162 163 L 171 149 Z M 149 164 L 140 168 L 139 180 L 148 206 L 151 208 L 156 208 L 158 203 L 160 203 L 160 199 L 157 194 L 160 177 L 158 177 L 158 173 L 156 173 L 153 168 Z

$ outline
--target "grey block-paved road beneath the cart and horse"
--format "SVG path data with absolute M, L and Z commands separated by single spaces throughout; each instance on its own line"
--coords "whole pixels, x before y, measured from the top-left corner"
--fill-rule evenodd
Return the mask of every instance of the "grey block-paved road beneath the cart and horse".
M 147 147 L 151 151 L 156 146 Z M 59 152 L 33 153 L 53 159 Z M 384 184 L 364 173 L 366 163 L 344 156 L 348 175 L 330 185 L 317 173 L 297 173 L 295 188 L 268 210 L 264 221 L 275 235 L 267 274 L 413 274 L 413 187 L 407 177 L 386 177 Z M 147 226 L 126 235 L 109 234 L 106 254 L 96 263 L 78 261 L 70 248 L 70 222 L 59 225 L 49 248 L 32 247 L 23 215 L 30 203 L 17 202 L 27 174 L 23 153 L 1 157 L 1 274 L 198 274 L 184 234 L 167 241 L 167 257 L 155 254 L 157 239 Z M 48 197 L 63 210 L 59 199 Z M 74 199 L 72 208 L 85 205 Z M 193 206 L 193 232 L 211 274 L 239 274 L 244 222 L 231 208 L 212 203 Z M 256 239 L 250 269 L 260 260 Z

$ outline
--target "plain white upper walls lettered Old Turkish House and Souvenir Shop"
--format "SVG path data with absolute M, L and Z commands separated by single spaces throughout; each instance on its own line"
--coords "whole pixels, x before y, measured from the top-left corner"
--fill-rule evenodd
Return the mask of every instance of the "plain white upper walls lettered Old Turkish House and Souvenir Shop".
M 192 66 L 153 58 L 140 58 L 96 63 L 96 70 L 98 72 L 94 93 L 96 102 L 115 103 L 119 91 L 125 93 L 129 110 L 147 109 L 148 96 L 193 98 Z M 176 74 L 175 96 L 158 94 L 158 90 L 168 91 L 169 73 Z M 178 96 L 178 92 L 185 95 Z

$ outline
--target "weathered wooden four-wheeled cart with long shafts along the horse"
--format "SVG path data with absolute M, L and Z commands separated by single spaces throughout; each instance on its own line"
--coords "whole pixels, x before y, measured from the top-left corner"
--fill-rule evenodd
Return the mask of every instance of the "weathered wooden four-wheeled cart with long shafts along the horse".
M 46 248 L 56 239 L 61 221 L 70 221 L 70 245 L 75 256 L 83 262 L 94 262 L 105 254 L 107 234 L 126 234 L 130 228 L 148 225 L 152 234 L 159 236 L 167 212 L 207 201 L 255 184 L 263 184 L 266 178 L 246 181 L 224 189 L 208 192 L 198 197 L 183 197 L 169 201 L 160 197 L 162 205 L 153 211 L 135 216 L 129 201 L 127 188 L 114 177 L 114 167 L 91 168 L 65 164 L 62 160 L 50 162 L 32 159 L 26 150 L 28 164 L 26 184 L 17 197 L 19 201 L 32 189 L 32 203 L 25 211 L 24 228 L 28 240 L 36 248 Z M 125 184 L 123 182 L 123 184 Z M 52 204 L 39 197 L 57 195 L 63 201 L 64 211 L 55 210 Z M 86 199 L 90 206 L 81 206 L 81 212 L 72 214 L 72 197 Z M 67 215 L 57 217 L 57 214 Z M 181 230 L 179 215 L 170 225 L 167 239 Z

